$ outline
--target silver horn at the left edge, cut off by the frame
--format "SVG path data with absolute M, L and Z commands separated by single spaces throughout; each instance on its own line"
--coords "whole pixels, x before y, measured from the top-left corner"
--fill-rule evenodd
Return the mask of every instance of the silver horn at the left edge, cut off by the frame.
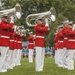
M 17 19 L 21 18 L 21 6 L 16 4 L 14 8 L 0 11 L 0 17 L 3 15 L 14 16 Z

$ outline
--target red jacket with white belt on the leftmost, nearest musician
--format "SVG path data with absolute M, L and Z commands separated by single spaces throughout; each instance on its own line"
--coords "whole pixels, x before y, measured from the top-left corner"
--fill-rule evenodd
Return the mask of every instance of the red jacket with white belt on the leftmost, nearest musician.
M 0 23 L 0 46 L 9 46 L 9 38 L 10 38 L 10 32 L 9 29 L 13 27 L 13 23 Z

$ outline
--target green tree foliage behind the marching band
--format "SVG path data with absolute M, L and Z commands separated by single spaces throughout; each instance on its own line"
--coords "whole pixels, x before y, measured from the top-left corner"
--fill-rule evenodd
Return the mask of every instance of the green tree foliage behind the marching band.
M 34 28 L 28 27 L 26 17 L 29 14 L 49 11 L 53 6 L 56 9 L 56 21 L 50 24 L 50 34 L 46 37 L 47 45 L 53 46 L 54 33 L 58 25 L 64 20 L 73 20 L 75 23 L 75 0 L 3 0 L 5 9 L 12 8 L 18 2 L 22 7 L 22 18 L 16 22 L 17 25 L 24 25 L 33 31 Z M 26 38 L 27 40 L 27 38 Z

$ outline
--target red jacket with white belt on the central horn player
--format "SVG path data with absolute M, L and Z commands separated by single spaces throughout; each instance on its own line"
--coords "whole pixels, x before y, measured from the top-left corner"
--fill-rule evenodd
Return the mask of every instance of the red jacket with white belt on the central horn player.
M 44 34 L 49 33 L 48 27 L 38 24 L 35 26 L 34 32 L 36 34 L 35 46 L 44 47 L 45 46 Z

